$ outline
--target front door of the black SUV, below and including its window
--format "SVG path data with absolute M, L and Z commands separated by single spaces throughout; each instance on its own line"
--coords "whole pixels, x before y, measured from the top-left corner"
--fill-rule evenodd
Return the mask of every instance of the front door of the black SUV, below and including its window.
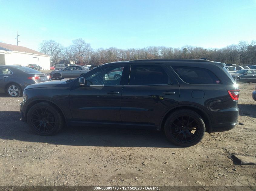
M 120 122 L 121 95 L 124 76 L 109 79 L 108 73 L 121 66 L 106 66 L 94 69 L 91 75 L 83 75 L 85 86 L 78 81 L 71 88 L 70 109 L 74 121 L 85 122 Z M 121 71 L 123 72 L 123 71 Z

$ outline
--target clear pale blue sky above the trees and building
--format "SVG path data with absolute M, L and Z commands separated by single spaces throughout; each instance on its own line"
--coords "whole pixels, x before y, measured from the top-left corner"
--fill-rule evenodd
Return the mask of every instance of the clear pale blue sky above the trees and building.
M 92 48 L 220 48 L 256 40 L 256 0 L 0 0 L 0 42 L 38 50 L 42 40 Z

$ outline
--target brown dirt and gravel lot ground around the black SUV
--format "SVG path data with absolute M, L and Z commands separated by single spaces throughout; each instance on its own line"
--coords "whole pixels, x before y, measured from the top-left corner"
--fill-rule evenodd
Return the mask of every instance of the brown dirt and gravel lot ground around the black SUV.
M 21 98 L 0 95 L 0 185 L 255 186 L 256 166 L 234 165 L 227 157 L 256 157 L 255 85 L 239 85 L 243 125 L 206 133 L 191 148 L 170 145 L 162 132 L 131 129 L 65 128 L 55 136 L 34 135 L 19 121 Z

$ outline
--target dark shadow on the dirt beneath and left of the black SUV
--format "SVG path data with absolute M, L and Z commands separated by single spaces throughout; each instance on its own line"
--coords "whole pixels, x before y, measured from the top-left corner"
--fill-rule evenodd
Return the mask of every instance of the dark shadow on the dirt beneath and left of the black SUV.
M 102 127 L 65 127 L 57 135 L 35 135 L 16 111 L 0 111 L 0 138 L 57 145 L 178 148 L 163 132 Z

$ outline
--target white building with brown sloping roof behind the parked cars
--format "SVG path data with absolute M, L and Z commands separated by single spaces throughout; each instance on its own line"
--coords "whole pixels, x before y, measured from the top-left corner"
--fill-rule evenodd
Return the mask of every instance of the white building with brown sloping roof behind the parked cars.
M 38 64 L 42 70 L 50 69 L 50 56 L 24 46 L 0 43 L 0 65 Z

